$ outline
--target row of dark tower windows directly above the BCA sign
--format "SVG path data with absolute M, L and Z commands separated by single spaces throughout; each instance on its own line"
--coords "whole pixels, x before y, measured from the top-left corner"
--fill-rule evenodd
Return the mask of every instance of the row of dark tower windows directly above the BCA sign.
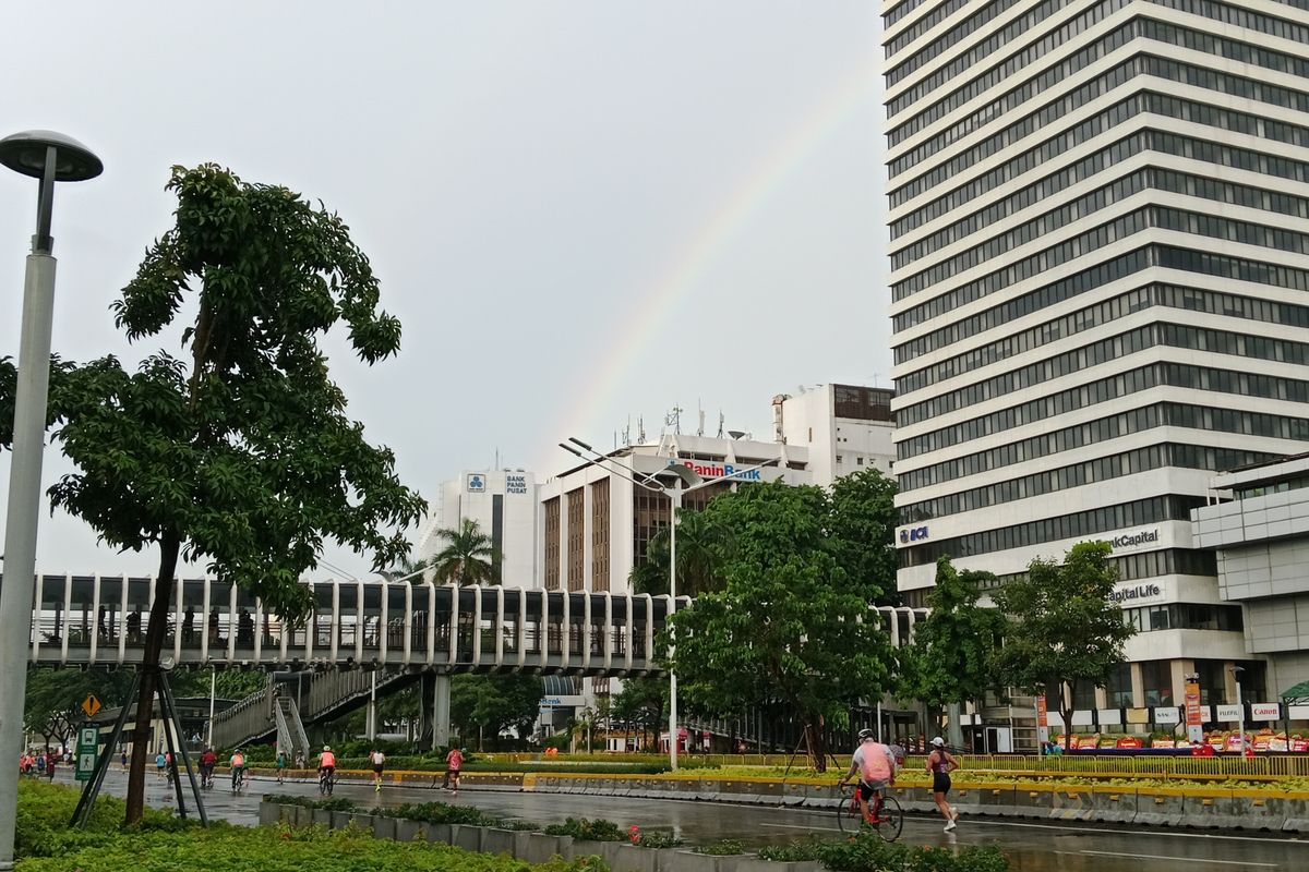
M 933 518 L 978 511 L 1017 499 L 1058 493 L 1165 467 L 1223 472 L 1250 463 L 1263 463 L 1278 456 L 1280 455 L 1264 451 L 1228 451 L 1200 444 L 1152 444 L 1145 448 L 1096 458 L 1058 469 L 1043 469 L 1030 476 L 997 481 L 994 485 L 971 488 L 936 499 L 902 506 L 899 523 L 919 523 Z

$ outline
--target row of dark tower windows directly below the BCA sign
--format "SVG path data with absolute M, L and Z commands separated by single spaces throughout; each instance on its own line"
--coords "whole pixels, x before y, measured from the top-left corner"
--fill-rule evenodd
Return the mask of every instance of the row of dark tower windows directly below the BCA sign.
M 1152 497 L 1103 506 L 1071 515 L 1043 518 L 999 529 L 983 529 L 954 539 L 924 543 L 899 550 L 901 567 L 935 563 L 939 557 L 975 557 L 992 552 L 1041 545 L 1060 539 L 1084 539 L 1127 527 L 1165 520 L 1187 520 L 1191 510 L 1204 505 L 1204 497 Z

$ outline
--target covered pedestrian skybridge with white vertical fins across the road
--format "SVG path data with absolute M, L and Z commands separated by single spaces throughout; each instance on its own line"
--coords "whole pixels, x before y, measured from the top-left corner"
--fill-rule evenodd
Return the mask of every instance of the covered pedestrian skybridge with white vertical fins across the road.
M 149 629 L 153 578 L 42 575 L 31 660 L 130 667 Z M 183 579 L 164 654 L 220 668 L 435 667 L 589 676 L 657 672 L 668 596 L 408 582 L 306 582 L 314 613 L 288 625 L 212 578 Z M 679 597 L 685 605 L 687 600 Z

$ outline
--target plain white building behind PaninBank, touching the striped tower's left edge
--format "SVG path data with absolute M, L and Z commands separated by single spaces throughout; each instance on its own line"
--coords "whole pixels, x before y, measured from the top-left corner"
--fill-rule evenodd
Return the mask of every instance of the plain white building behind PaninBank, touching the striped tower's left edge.
M 889 388 L 819 384 L 789 396 L 772 397 L 774 437 L 809 448 L 809 472 L 816 485 L 869 467 L 891 475 L 895 446 L 891 435 Z

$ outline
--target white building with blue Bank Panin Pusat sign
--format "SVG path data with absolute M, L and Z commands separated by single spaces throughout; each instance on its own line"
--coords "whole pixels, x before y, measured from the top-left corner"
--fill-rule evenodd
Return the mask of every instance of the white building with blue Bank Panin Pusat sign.
M 463 472 L 441 484 L 419 537 L 418 557 L 432 557 L 445 543 L 440 529 L 458 529 L 475 520 L 500 552 L 505 587 L 537 587 L 537 478 L 525 469 Z

